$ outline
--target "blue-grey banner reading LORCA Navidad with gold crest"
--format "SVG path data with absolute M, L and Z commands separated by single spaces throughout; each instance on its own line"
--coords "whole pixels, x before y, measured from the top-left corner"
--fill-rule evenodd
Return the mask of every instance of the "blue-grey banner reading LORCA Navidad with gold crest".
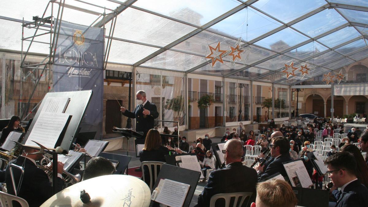
M 96 131 L 95 139 L 102 138 L 104 46 L 103 28 L 61 21 L 52 66 L 55 92 L 93 91 L 80 132 Z

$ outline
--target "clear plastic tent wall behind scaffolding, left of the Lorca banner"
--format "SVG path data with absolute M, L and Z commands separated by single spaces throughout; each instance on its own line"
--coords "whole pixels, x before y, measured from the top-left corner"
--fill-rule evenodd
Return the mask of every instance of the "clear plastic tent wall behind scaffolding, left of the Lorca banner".
M 10 119 L 15 115 L 20 116 L 22 121 L 28 121 L 35 116 L 38 104 L 49 92 L 49 71 L 43 71 L 44 66 L 40 66 L 41 70 L 21 70 L 21 55 L 18 54 L 0 53 L 0 57 L 0 117 Z M 42 60 L 43 57 L 27 56 L 24 64 L 38 64 Z

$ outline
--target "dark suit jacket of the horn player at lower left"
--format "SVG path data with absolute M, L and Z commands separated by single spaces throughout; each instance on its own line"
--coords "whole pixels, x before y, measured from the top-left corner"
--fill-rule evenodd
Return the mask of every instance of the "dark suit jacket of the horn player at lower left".
M 38 168 L 31 160 L 20 156 L 11 161 L 10 164 L 11 163 L 19 166 L 22 166 L 24 163 L 24 177 L 18 196 L 25 199 L 30 207 L 40 206 L 47 199 L 53 196 L 52 185 L 49 181 L 49 177 L 47 177 L 46 173 L 42 169 Z M 15 185 L 18 186 L 21 173 L 17 169 L 14 169 L 13 172 Z M 11 182 L 9 164 L 7 165 L 5 171 L 5 181 L 8 193 L 15 195 L 13 184 Z M 60 191 L 63 189 L 64 182 L 60 178 L 57 178 L 57 182 L 58 191 Z

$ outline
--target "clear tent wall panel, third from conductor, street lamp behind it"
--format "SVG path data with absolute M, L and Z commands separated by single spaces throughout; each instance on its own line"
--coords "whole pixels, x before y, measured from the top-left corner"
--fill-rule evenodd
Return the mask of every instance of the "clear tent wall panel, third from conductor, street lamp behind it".
M 250 120 L 250 86 L 239 80 L 226 81 L 226 123 Z

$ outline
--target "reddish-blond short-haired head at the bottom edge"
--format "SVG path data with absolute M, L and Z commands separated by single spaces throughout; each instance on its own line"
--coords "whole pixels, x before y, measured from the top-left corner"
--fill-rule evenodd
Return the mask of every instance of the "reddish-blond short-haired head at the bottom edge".
M 257 197 L 251 207 L 295 207 L 297 197 L 284 180 L 267 180 L 258 183 Z

